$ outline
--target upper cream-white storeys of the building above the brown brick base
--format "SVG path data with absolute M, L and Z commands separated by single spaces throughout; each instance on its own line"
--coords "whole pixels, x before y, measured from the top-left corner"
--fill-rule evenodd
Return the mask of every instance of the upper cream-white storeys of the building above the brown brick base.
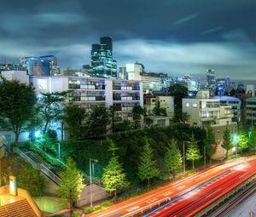
M 191 126 L 229 125 L 234 117 L 231 106 L 221 106 L 219 99 L 210 99 L 208 91 L 199 91 L 195 99 L 183 99 L 183 112 L 189 114 Z

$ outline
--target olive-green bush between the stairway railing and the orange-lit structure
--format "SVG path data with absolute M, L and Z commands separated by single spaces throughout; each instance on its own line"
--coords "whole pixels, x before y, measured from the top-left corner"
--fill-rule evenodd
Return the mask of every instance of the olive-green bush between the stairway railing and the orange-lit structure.
M 3 185 L 8 185 L 9 176 L 15 175 L 18 187 L 26 189 L 33 197 L 44 195 L 44 176 L 17 155 L 3 157 L 1 175 Z

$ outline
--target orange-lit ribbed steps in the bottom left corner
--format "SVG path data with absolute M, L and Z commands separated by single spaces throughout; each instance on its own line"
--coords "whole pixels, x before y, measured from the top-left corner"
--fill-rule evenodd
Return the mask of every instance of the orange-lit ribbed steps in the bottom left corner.
M 1 217 L 37 217 L 26 199 L 0 207 Z

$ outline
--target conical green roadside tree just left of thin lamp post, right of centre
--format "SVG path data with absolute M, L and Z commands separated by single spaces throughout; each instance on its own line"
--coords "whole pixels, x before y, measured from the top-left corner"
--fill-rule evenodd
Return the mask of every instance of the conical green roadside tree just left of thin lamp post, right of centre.
M 177 148 L 177 140 L 172 139 L 165 156 L 165 167 L 169 174 L 172 174 L 173 179 L 177 173 L 177 169 L 183 164 L 183 157 Z

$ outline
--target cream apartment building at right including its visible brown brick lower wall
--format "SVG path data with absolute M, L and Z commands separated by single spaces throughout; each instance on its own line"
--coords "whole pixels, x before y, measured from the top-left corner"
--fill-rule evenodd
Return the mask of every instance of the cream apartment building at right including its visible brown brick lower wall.
M 183 99 L 183 112 L 189 114 L 191 126 L 206 127 L 211 125 L 217 142 L 217 149 L 212 159 L 223 158 L 225 151 L 221 147 L 223 134 L 229 128 L 232 134 L 237 131 L 237 123 L 232 121 L 232 106 L 221 105 L 220 99 L 210 98 L 209 91 L 199 91 L 194 99 Z M 229 155 L 232 150 L 229 151 Z

